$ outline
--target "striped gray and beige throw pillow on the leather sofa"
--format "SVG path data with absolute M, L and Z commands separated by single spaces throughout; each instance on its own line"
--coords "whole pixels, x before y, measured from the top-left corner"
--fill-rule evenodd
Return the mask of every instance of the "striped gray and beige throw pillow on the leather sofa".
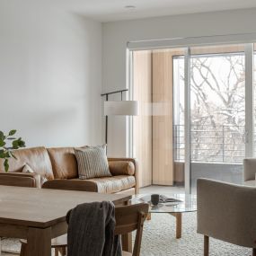
M 106 146 L 75 148 L 79 179 L 92 179 L 111 176 L 106 154 Z

